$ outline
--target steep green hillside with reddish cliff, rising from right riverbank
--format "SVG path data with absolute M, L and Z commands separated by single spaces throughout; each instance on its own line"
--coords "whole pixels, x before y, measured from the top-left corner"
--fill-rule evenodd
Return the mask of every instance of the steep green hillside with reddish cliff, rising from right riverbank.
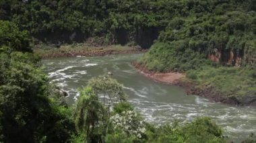
M 139 64 L 152 71 L 185 73 L 187 81 L 195 85 L 191 94 L 256 105 L 253 3 L 187 2 L 191 12 L 174 16 Z

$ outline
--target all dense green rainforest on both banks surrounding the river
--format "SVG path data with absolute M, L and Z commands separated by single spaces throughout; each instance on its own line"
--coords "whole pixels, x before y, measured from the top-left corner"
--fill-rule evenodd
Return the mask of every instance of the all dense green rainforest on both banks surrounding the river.
M 207 117 L 143 121 L 106 76 L 91 79 L 68 107 L 32 46 L 90 38 L 150 48 L 137 64 L 184 73 L 193 94 L 256 104 L 255 0 L 1 0 L 0 142 L 227 142 Z

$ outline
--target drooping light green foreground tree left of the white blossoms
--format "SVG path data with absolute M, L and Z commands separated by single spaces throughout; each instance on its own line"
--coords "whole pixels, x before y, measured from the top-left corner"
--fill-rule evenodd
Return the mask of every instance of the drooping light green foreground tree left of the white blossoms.
M 99 76 L 90 79 L 79 93 L 74 114 L 77 130 L 86 134 L 88 142 L 104 140 L 110 124 L 110 108 L 115 102 L 126 101 L 123 86 L 108 76 Z

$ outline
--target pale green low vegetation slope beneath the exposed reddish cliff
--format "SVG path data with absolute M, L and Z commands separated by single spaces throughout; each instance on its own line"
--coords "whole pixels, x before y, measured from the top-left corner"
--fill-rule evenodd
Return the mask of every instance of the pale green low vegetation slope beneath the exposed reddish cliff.
M 256 96 L 255 68 L 252 66 L 204 66 L 202 69 L 189 70 L 186 77 L 199 88 L 214 87 L 227 97 L 233 96 L 240 100 L 247 95 Z

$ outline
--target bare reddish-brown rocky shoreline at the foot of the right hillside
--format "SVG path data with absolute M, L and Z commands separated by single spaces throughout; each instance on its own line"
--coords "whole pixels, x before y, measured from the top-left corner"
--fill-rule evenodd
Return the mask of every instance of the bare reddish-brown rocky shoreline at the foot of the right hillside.
M 221 91 L 217 91 L 213 87 L 205 86 L 203 88 L 198 88 L 194 83 L 191 83 L 191 81 L 186 79 L 184 73 L 152 72 L 147 70 L 145 66 L 138 64 L 137 62 L 132 62 L 131 64 L 138 73 L 141 73 L 141 75 L 144 75 L 154 81 L 168 85 L 177 85 L 185 88 L 187 95 L 198 95 L 210 99 L 211 101 L 226 103 L 228 105 L 256 107 L 255 101 L 253 101 L 252 103 L 245 103 L 243 101 L 239 101 L 235 97 L 226 97 L 224 93 L 222 93 Z

